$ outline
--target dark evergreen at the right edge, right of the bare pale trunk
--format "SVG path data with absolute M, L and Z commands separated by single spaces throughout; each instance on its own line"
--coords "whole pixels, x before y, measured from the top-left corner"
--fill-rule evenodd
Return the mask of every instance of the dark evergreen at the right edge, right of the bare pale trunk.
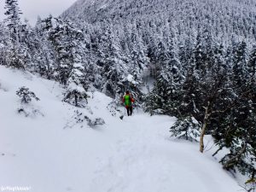
M 235 171 L 235 168 L 238 168 L 242 174 L 248 176 L 253 175 L 256 168 L 256 119 L 253 97 L 255 97 L 255 93 L 250 90 L 247 90 L 246 93 L 236 90 L 236 96 L 233 98 L 229 110 L 224 111 L 218 116 L 218 119 L 215 119 L 218 123 L 215 122 L 214 126 L 217 128 L 213 134 L 219 146 L 218 150 L 224 147 L 230 148 L 230 152 L 220 160 L 224 169 Z M 217 153 L 218 151 L 215 154 Z

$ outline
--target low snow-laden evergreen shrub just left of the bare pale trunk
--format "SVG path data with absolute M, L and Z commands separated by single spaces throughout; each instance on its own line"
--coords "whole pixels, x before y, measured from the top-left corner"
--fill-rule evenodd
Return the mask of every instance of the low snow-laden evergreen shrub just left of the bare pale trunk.
M 191 117 L 177 119 L 170 132 L 172 137 L 183 138 L 197 142 L 200 136 L 200 124 Z

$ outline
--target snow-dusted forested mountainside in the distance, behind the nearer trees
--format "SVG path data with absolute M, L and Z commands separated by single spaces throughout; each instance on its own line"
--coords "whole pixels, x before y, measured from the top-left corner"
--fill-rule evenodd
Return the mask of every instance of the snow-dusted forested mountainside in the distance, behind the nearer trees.
M 255 42 L 255 15 L 253 0 L 78 0 L 61 17 L 86 30 L 87 23 L 95 27 L 106 22 L 118 32 L 137 23 L 138 31 L 160 33 L 158 29 L 170 23 L 177 27 L 180 41 L 189 33 L 208 28 L 223 44 L 236 36 Z

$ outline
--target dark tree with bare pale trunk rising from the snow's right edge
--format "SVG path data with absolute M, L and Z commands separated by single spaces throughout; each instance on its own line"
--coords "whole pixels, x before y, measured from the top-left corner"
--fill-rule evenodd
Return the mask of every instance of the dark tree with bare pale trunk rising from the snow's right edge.
M 205 67 L 205 71 L 197 71 L 192 63 L 183 84 L 178 111 L 180 119 L 186 116 L 195 118 L 201 124 L 201 152 L 204 150 L 203 137 L 212 131 L 211 119 L 216 113 L 229 108 L 231 96 L 229 74 L 224 70 L 222 49 L 216 47 L 213 65 Z

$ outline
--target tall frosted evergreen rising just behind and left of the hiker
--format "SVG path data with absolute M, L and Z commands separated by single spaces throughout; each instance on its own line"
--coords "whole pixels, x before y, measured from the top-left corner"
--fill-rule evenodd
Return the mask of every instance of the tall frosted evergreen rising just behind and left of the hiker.
M 98 61 L 101 63 L 101 90 L 119 102 L 120 96 L 123 95 L 125 88 L 127 89 L 124 83 L 128 75 L 128 67 L 125 62 L 128 59 L 120 53 L 120 44 L 115 40 L 116 36 L 109 26 L 99 38 L 101 44 L 97 51 L 101 55 Z

